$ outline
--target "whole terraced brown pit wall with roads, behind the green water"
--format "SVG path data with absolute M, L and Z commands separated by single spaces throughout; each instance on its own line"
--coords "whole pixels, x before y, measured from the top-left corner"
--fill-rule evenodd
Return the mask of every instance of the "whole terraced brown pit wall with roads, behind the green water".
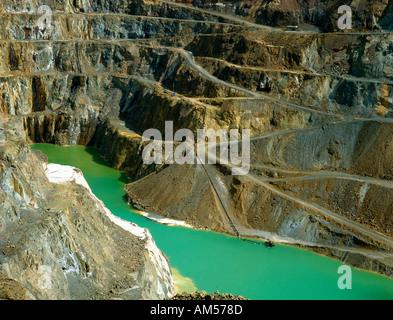
M 97 147 L 142 210 L 392 276 L 392 36 L 372 33 L 391 3 L 365 3 L 350 34 L 283 31 L 336 31 L 341 2 L 56 2 L 37 30 L 38 3 L 6 1 L 0 111 L 28 142 Z M 250 129 L 250 173 L 144 164 L 165 121 Z

